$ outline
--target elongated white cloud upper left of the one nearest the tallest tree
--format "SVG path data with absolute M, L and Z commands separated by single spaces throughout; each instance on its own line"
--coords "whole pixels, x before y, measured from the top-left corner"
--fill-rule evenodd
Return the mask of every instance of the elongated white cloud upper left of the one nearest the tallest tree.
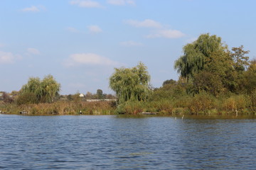
M 127 20 L 124 21 L 125 23 L 134 26 L 134 27 L 139 27 L 139 28 L 161 28 L 161 23 L 158 23 L 154 20 L 151 19 L 146 19 L 144 21 L 136 21 L 136 20 Z

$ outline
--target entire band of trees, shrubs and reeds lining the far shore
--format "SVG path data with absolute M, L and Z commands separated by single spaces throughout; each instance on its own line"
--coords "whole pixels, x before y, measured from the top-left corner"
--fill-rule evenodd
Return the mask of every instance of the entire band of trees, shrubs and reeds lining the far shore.
M 60 96 L 60 84 L 48 75 L 29 78 L 20 91 L 1 92 L 1 113 L 26 115 L 255 115 L 256 60 L 243 46 L 228 49 L 216 35 L 202 34 L 183 47 L 174 68 L 178 81 L 159 88 L 150 85 L 142 63 L 115 68 L 110 89 L 115 92 Z M 64 98 L 64 99 L 63 99 Z M 87 101 L 97 99 L 97 101 Z M 105 101 L 105 99 L 109 99 Z

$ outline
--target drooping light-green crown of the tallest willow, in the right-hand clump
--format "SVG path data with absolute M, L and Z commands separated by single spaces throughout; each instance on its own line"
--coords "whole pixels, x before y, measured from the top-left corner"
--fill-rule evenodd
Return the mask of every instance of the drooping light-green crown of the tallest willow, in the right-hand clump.
M 187 81 L 193 79 L 194 74 L 203 70 L 205 64 L 211 62 L 212 54 L 225 52 L 227 47 L 216 35 L 202 34 L 192 43 L 183 47 L 183 55 L 176 60 L 174 68 Z

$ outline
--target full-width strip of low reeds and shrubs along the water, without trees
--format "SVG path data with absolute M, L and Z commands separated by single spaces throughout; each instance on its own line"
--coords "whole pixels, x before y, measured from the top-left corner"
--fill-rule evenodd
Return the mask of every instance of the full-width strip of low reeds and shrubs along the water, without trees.
M 166 92 L 166 91 L 165 91 Z M 255 95 L 212 96 L 207 93 L 180 94 L 180 96 L 153 95 L 148 101 L 127 101 L 116 105 L 115 101 L 56 101 L 55 103 L 23 104 L 0 103 L 0 111 L 9 114 L 28 115 L 139 115 L 143 112 L 156 115 L 255 115 Z

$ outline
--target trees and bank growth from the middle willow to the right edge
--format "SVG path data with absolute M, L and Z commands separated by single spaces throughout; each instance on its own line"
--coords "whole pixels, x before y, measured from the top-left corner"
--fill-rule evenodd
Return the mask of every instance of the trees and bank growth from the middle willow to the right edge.
M 253 113 L 256 111 L 256 60 L 249 50 L 232 47 L 217 35 L 202 34 L 183 47 L 174 68 L 178 81 L 151 88 L 146 66 L 115 69 L 110 88 L 119 113 Z

